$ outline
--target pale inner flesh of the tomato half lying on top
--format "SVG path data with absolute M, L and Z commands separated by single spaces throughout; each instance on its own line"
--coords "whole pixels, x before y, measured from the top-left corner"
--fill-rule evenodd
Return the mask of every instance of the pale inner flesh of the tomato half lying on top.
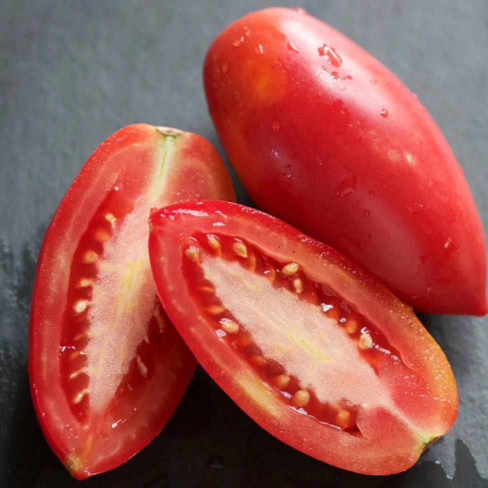
M 222 305 L 251 335 L 265 358 L 278 362 L 332 405 L 387 405 L 384 386 L 360 357 L 357 341 L 318 305 L 275 288 L 237 262 L 202 256 L 204 276 Z

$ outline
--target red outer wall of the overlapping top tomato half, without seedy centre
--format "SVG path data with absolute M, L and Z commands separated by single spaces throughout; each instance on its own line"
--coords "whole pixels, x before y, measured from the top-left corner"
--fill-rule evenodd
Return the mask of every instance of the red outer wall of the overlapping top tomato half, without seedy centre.
M 444 353 L 409 306 L 349 259 L 275 217 L 226 202 L 187 202 L 154 210 L 150 226 L 151 267 L 168 316 L 207 373 L 273 436 L 340 468 L 387 475 L 412 466 L 427 445 L 453 425 L 458 396 Z M 298 262 L 311 279 L 328 283 L 380 327 L 402 361 L 412 371 L 421 372 L 428 385 L 427 398 L 416 397 L 415 385 L 409 385 L 395 400 L 415 428 L 395 422 L 391 412 L 364 405 L 358 422 L 366 441 L 302 415 L 285 406 L 281 396 L 270 393 L 249 363 L 216 334 L 195 298 L 195 286 L 185 281 L 182 273 L 193 236 L 217 231 L 252 243 L 280 262 Z M 169 236 L 171 245 L 167 244 Z M 173 285 L 171 292 L 167 282 Z M 239 299 L 246 298 L 239 295 Z M 396 382 L 390 377 L 385 389 L 394 392 Z

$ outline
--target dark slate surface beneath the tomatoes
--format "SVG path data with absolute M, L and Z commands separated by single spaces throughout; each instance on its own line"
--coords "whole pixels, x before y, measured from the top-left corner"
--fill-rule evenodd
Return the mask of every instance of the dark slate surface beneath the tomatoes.
M 293 1 L 282 4 L 296 6 Z M 206 48 L 259 0 L 0 3 L 0 487 L 79 486 L 37 425 L 25 370 L 43 232 L 93 149 L 132 122 L 218 144 L 201 88 Z M 488 228 L 486 0 L 303 2 L 396 72 L 438 121 Z M 249 203 L 236 188 L 241 203 Z M 460 286 L 463 286 L 460 283 Z M 422 317 L 460 390 L 453 430 L 406 473 L 355 475 L 276 441 L 199 369 L 166 429 L 86 487 L 488 487 L 488 320 Z

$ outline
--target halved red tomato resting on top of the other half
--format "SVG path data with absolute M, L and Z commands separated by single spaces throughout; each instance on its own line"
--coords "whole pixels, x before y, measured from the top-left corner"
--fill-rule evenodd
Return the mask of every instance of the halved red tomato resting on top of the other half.
M 338 252 L 225 202 L 155 210 L 150 227 L 168 316 L 273 436 L 340 468 L 386 475 L 452 426 L 458 396 L 444 353 L 409 306 Z

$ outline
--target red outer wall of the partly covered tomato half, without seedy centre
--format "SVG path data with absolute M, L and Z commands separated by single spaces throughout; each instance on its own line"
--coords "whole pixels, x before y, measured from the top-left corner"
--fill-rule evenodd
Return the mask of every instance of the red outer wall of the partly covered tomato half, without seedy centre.
M 160 164 L 161 158 L 164 163 Z M 158 164 L 165 170 L 159 180 Z M 70 268 L 83 233 L 114 185 L 129 207 L 143 197 L 157 205 L 196 197 L 235 198 L 222 160 L 203 137 L 134 124 L 112 134 L 93 152 L 62 199 L 39 252 L 31 300 L 28 372 L 42 432 L 61 463 L 80 480 L 119 466 L 145 447 L 171 417 L 196 367 L 193 355 L 163 317 L 159 336 L 151 336 L 146 345 L 152 348 L 152 362 L 139 389 L 134 385 L 136 394 L 131 397 L 127 386 L 119 388 L 101 414 L 91 412 L 88 404 L 83 422 L 73 413 L 72 394 L 63 386 L 70 371 L 64 370 L 61 360 Z M 143 215 L 149 215 L 149 210 Z M 140 225 L 147 230 L 145 218 Z M 143 234 L 141 239 L 146 241 Z M 152 300 L 155 304 L 155 290 Z M 131 368 L 137 371 L 135 358 Z M 142 369 L 142 373 L 146 371 Z M 129 390 L 132 392 L 130 385 Z

